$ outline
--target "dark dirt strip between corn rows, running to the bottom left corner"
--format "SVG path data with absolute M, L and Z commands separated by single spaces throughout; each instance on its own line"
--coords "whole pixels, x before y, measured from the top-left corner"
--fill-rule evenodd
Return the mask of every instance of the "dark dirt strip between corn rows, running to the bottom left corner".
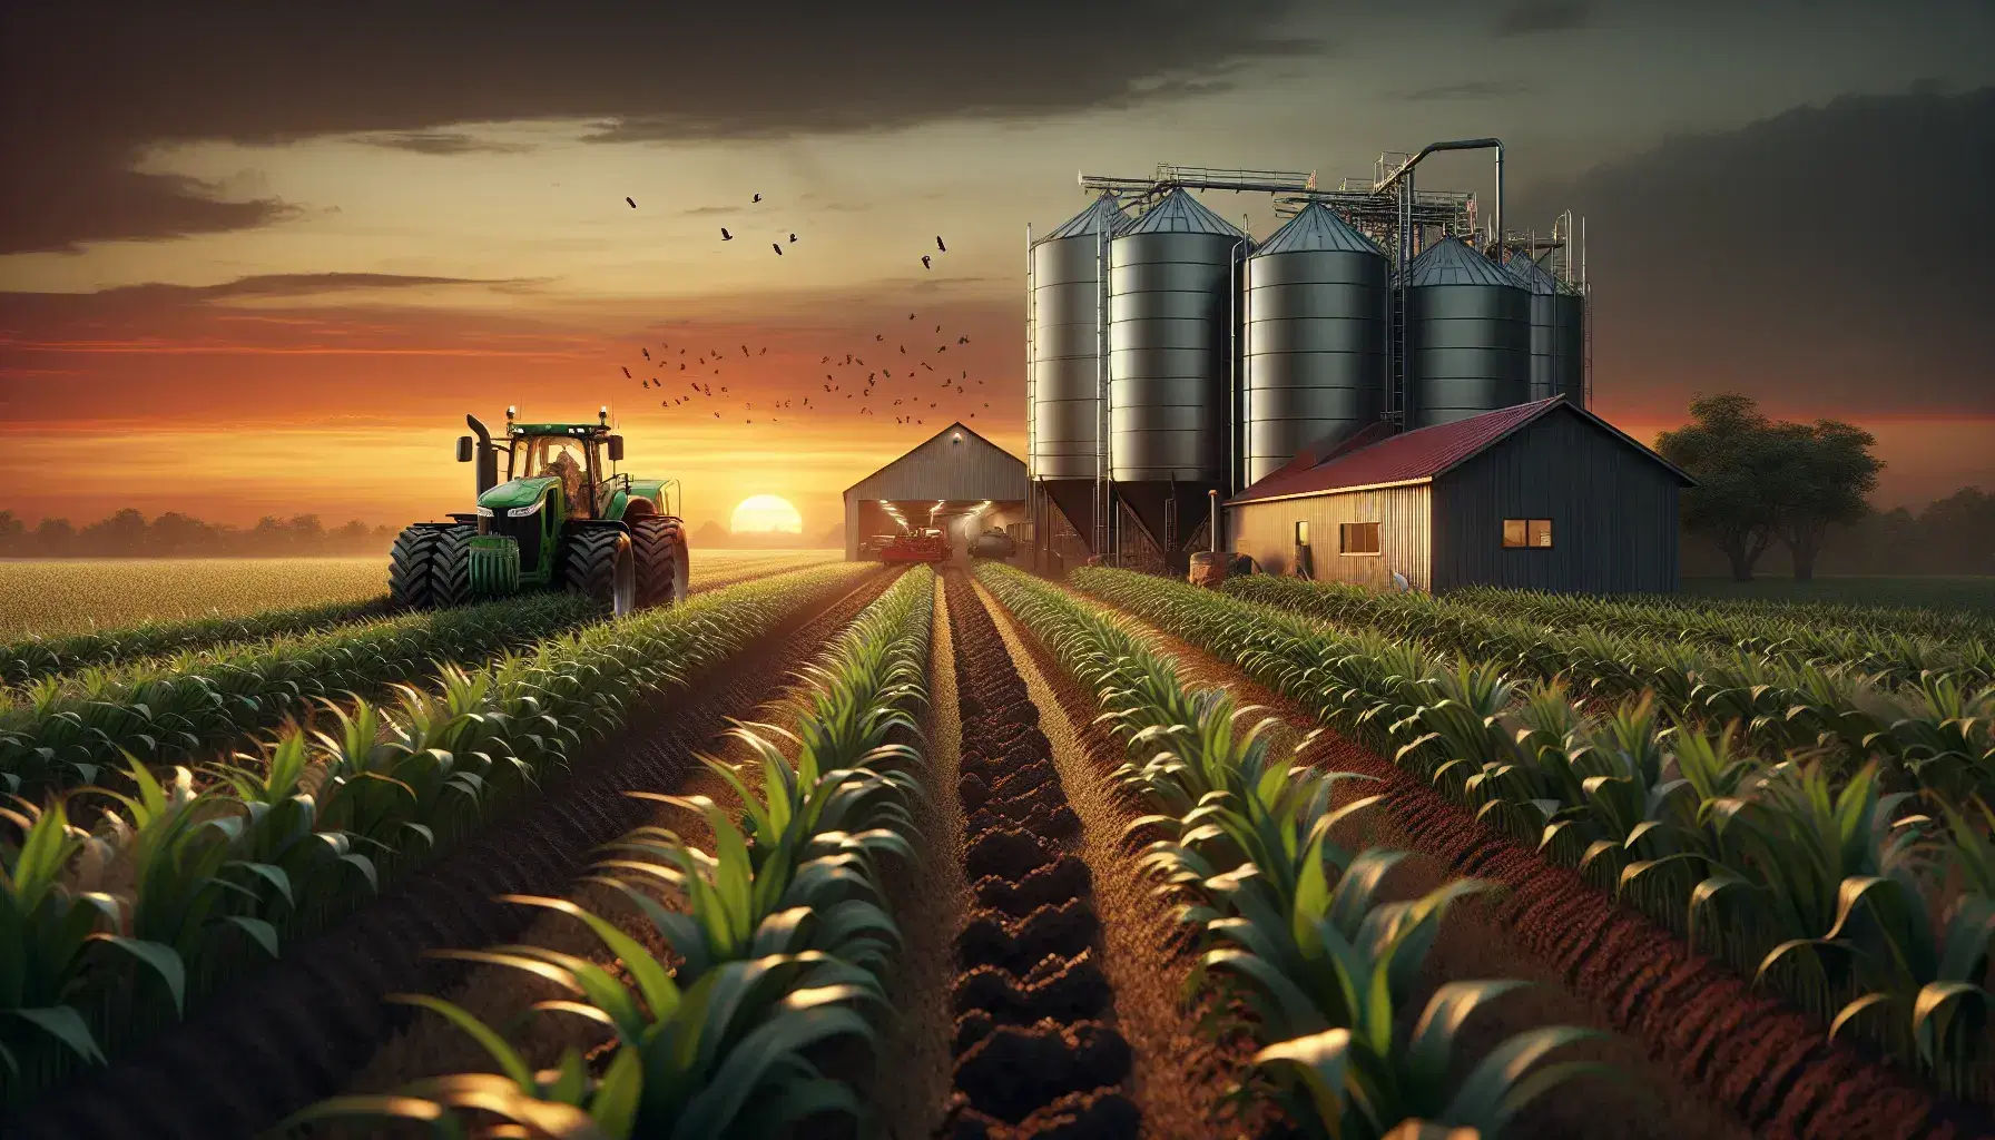
M 894 581 L 872 573 L 806 607 L 676 699 L 640 711 L 589 749 L 547 795 L 493 821 L 481 839 L 411 874 L 365 910 L 217 994 L 130 1058 L 52 1090 L 0 1126 L 14 1140 L 219 1140 L 255 1136 L 341 1090 L 411 1010 L 381 994 L 451 992 L 463 966 L 429 950 L 507 942 L 535 918 L 497 894 L 567 894 L 595 847 L 642 823 L 652 805 L 624 791 L 670 791 L 692 753 L 754 709 L 826 637 Z

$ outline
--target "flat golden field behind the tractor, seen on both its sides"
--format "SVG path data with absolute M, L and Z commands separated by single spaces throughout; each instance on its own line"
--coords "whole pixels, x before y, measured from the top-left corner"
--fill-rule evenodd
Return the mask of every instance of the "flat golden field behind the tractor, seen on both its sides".
M 706 561 L 798 551 L 692 551 Z M 4 559 L 0 639 L 112 629 L 142 621 L 235 617 L 387 593 L 387 557 L 343 559 Z

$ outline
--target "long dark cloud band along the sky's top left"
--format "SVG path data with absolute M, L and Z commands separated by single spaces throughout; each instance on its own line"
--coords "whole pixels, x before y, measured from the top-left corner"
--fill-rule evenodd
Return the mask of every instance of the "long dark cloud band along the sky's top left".
M 1183 98 L 1317 50 L 1295 0 L 752 6 L 6 4 L 0 254 L 259 226 L 130 174 L 148 144 L 602 120 L 598 140 L 780 138 Z

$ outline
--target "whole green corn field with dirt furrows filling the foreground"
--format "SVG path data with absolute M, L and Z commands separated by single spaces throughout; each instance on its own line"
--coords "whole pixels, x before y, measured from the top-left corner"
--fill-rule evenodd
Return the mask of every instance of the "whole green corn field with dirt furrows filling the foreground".
M 0 645 L 0 1134 L 1995 1134 L 1981 619 L 820 563 Z

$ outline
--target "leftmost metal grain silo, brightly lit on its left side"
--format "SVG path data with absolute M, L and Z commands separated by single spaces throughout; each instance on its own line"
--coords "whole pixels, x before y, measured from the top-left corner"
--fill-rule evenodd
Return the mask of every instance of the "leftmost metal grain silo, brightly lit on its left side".
M 1107 238 L 1129 224 L 1101 196 L 1031 244 L 1029 465 L 1081 537 L 1093 533 L 1101 421 L 1101 266 Z

